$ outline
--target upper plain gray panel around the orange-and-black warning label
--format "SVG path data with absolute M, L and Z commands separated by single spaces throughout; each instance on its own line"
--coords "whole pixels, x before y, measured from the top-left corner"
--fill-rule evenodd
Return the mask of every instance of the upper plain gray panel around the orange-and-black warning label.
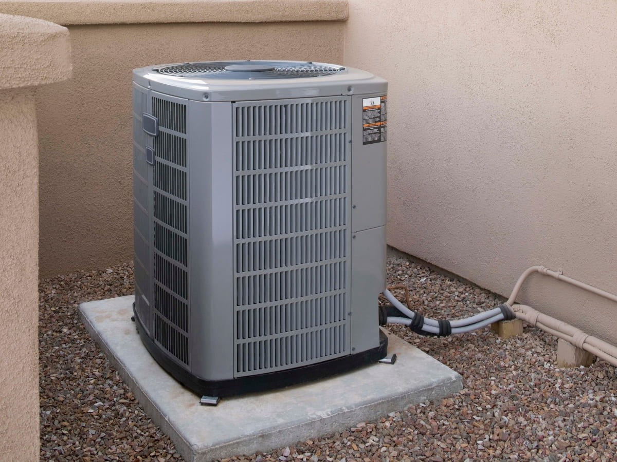
M 386 224 L 387 142 L 362 144 L 362 99 L 383 95 L 385 92 L 352 97 L 352 232 Z

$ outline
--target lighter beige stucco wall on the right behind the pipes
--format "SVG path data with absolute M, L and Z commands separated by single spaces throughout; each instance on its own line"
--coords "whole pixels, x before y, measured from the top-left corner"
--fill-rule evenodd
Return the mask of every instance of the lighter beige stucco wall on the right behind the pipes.
M 388 241 L 509 294 L 533 264 L 617 293 L 617 3 L 350 0 L 345 63 L 390 81 Z M 617 306 L 520 300 L 617 343 Z

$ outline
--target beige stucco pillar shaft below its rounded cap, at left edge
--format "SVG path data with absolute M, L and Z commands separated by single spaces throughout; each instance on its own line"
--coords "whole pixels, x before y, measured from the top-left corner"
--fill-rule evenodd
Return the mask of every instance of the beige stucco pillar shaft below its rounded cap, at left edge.
M 38 189 L 31 89 L 0 90 L 0 460 L 38 458 Z M 19 458 L 19 456 L 18 456 Z

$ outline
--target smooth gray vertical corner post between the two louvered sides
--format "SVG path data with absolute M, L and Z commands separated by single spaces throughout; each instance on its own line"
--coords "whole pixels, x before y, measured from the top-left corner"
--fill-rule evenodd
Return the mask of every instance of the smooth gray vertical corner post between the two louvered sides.
M 233 378 L 231 103 L 189 102 L 191 372 Z

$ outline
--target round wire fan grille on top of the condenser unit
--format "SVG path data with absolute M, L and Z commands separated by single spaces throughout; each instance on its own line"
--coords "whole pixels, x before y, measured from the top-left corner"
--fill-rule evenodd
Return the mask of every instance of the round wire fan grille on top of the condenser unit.
M 242 70 L 242 66 L 246 69 Z M 300 61 L 210 61 L 175 64 L 156 71 L 180 77 L 289 79 L 333 75 L 344 69 L 331 64 Z

